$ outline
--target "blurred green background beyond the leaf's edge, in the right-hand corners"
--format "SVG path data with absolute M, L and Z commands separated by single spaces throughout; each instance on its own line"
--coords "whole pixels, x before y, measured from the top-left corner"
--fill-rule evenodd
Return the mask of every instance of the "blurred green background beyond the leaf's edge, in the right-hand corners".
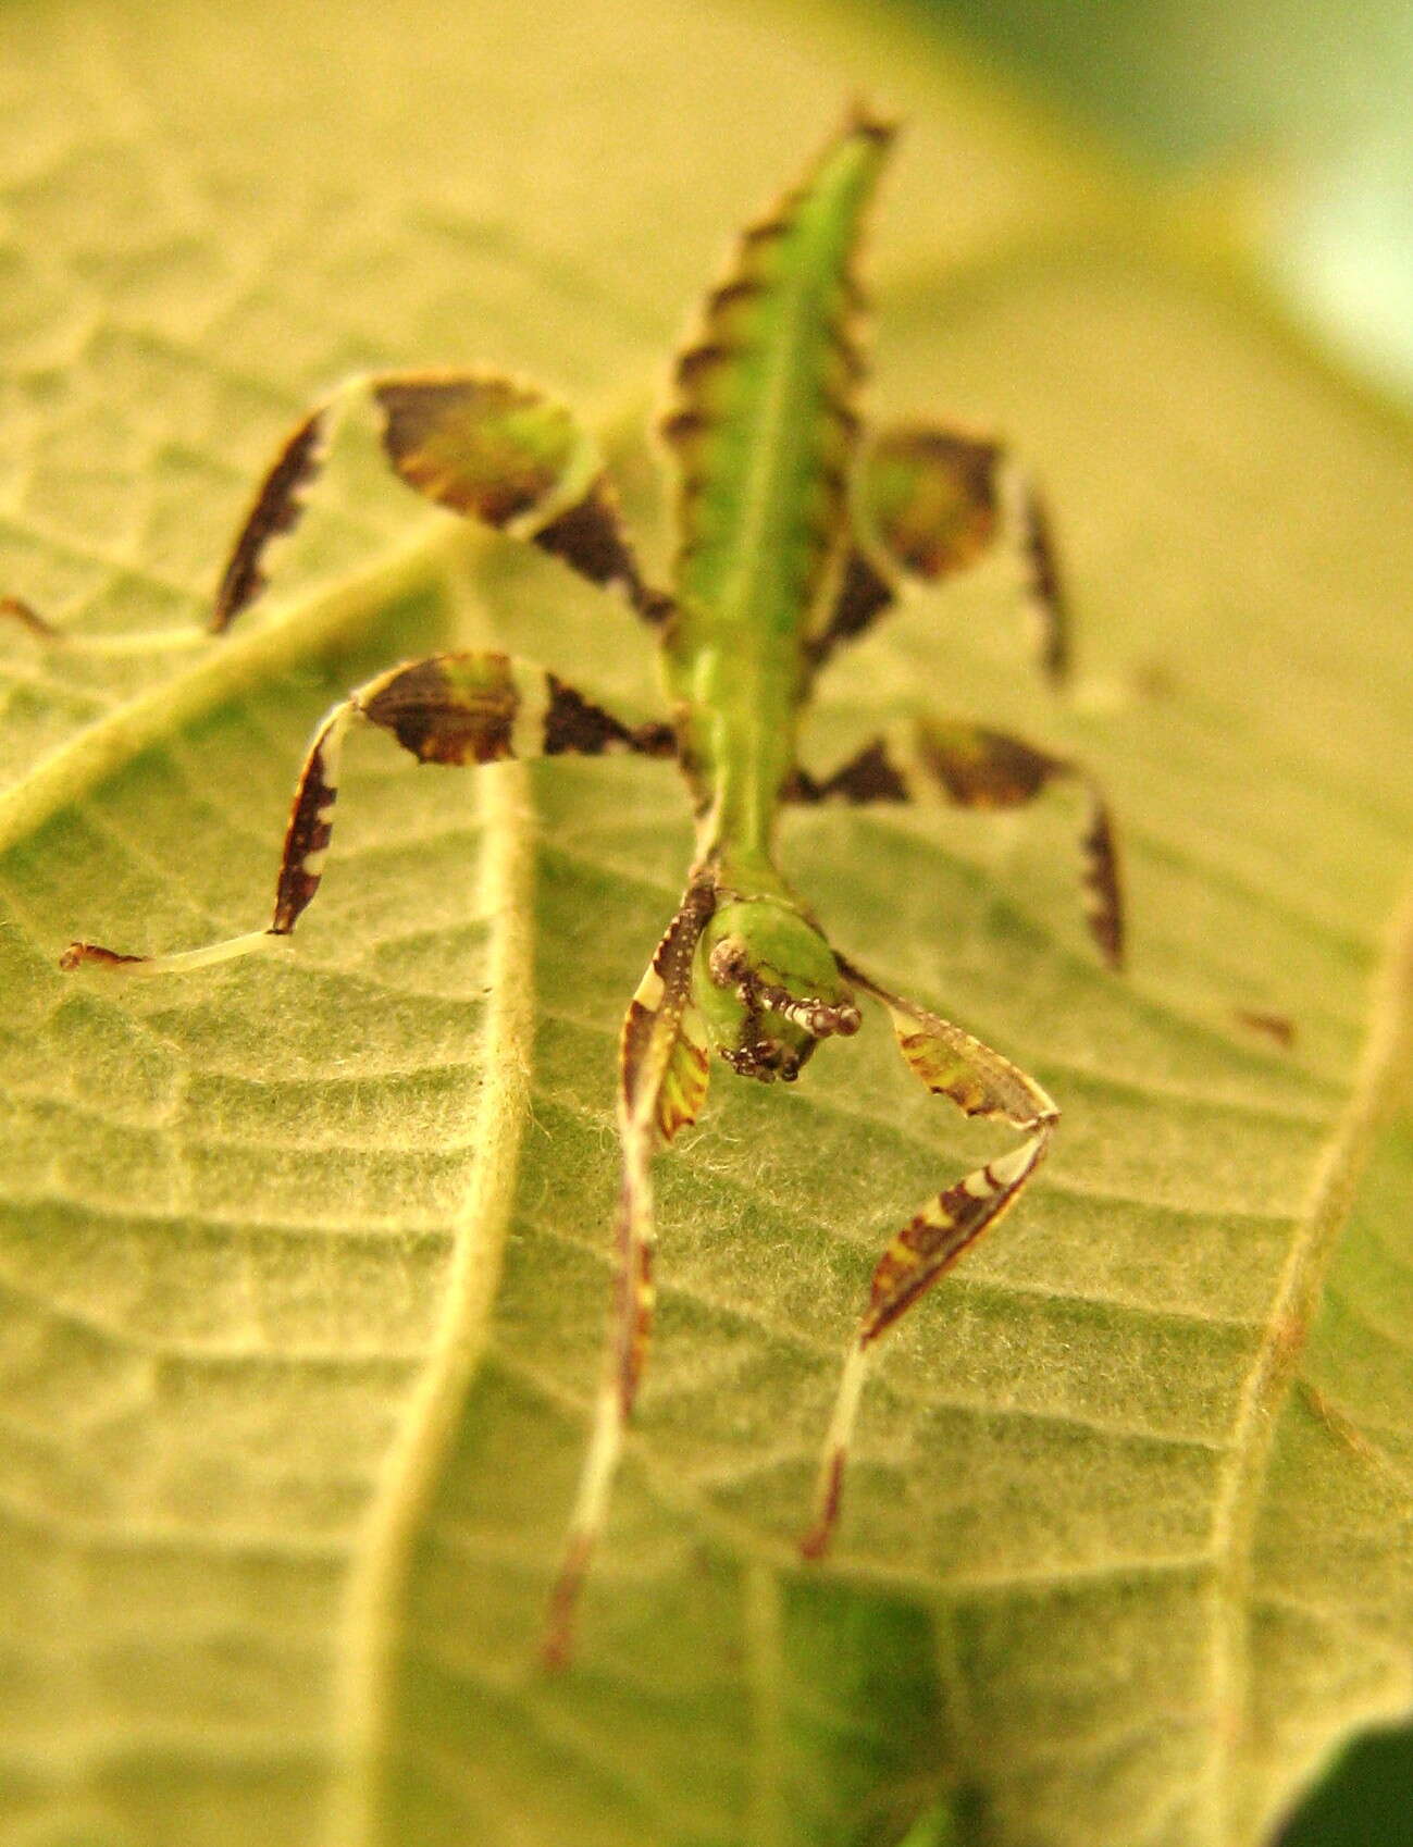
M 1097 129 L 1143 177 L 1202 190 L 1284 312 L 1413 408 L 1409 0 L 894 0 Z M 1413 1843 L 1413 1725 L 1354 1744 L 1280 1847 Z

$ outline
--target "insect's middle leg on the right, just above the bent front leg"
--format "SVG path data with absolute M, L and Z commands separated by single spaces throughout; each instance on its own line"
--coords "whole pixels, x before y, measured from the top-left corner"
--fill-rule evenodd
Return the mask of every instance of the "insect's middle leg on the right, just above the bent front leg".
M 798 802 L 914 802 L 929 789 L 959 807 L 1010 809 L 1034 802 L 1053 783 L 1084 791 L 1081 896 L 1090 933 L 1110 968 L 1123 966 L 1119 853 L 1108 802 L 1077 763 L 964 720 L 924 718 L 901 741 L 877 737 L 842 768 L 815 779 L 798 774 Z

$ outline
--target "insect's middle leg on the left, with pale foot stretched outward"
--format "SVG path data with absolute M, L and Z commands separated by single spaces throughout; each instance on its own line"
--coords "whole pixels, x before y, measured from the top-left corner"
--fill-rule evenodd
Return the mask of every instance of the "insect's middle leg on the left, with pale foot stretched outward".
M 320 888 L 332 837 L 338 763 L 355 720 L 390 731 L 421 763 L 482 765 L 567 752 L 591 757 L 619 750 L 648 757 L 676 754 L 670 726 L 626 726 L 556 674 L 510 654 L 432 654 L 392 667 L 340 700 L 314 733 L 294 792 L 275 909 L 266 929 L 153 957 L 74 942 L 61 966 L 100 964 L 166 975 L 268 949 L 288 936 Z

